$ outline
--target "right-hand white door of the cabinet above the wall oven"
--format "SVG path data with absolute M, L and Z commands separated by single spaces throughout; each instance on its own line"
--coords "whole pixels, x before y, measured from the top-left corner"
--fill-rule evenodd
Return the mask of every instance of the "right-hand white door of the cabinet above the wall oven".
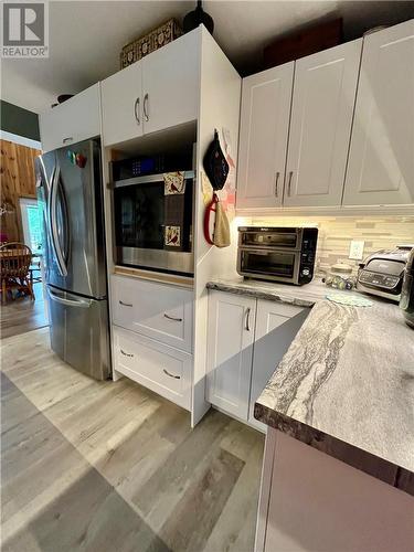
M 198 118 L 200 39 L 195 31 L 174 40 L 142 60 L 145 132 Z

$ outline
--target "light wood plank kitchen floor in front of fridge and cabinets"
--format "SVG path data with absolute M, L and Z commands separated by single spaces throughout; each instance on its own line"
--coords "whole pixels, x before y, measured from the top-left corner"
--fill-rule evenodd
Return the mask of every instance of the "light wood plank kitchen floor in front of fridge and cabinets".
M 264 436 L 1 342 L 3 552 L 252 552 Z

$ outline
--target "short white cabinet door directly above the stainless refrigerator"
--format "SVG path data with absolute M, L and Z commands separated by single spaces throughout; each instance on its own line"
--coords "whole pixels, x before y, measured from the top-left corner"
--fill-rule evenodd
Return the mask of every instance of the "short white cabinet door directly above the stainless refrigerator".
M 99 84 L 39 116 L 43 151 L 100 135 Z

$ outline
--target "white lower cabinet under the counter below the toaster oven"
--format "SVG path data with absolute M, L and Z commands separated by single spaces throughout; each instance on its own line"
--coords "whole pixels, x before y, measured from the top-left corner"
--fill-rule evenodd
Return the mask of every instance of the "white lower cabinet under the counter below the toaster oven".
M 254 403 L 308 312 L 283 302 L 210 291 L 206 400 L 265 431 L 254 418 Z

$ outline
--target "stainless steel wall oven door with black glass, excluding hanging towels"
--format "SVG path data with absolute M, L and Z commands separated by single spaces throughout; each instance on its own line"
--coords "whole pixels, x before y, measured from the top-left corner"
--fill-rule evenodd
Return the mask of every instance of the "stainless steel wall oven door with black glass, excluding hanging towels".
M 184 171 L 184 193 L 174 197 L 176 215 L 181 223 L 180 243 L 173 247 L 166 246 L 170 222 L 163 173 L 114 182 L 117 264 L 173 274 L 194 273 L 193 187 L 194 172 Z

